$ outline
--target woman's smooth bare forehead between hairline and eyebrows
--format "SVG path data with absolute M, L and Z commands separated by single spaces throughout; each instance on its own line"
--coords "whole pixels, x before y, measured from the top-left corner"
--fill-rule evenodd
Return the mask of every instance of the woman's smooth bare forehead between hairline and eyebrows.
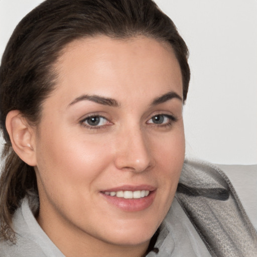
M 57 91 L 64 98 L 83 93 L 128 96 L 135 90 L 138 96 L 156 97 L 170 90 L 182 96 L 181 70 L 172 47 L 152 38 L 76 40 L 64 48 L 55 69 Z

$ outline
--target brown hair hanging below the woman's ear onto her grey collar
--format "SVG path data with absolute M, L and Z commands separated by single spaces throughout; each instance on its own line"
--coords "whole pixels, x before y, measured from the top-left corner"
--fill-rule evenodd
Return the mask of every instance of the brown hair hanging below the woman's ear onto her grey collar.
M 28 191 L 37 191 L 34 168 L 23 162 L 6 144 L 2 153 L 5 160 L 0 177 L 0 239 L 15 242 L 12 216 Z

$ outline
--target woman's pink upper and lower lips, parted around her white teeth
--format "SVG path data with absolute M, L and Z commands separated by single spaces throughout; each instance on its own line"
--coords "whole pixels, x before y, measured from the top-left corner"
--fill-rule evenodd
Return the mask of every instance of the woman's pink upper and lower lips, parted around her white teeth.
M 104 194 L 104 192 L 117 192 L 117 191 L 138 191 L 138 190 L 149 190 L 150 193 L 148 196 L 139 198 L 139 199 L 125 199 L 116 196 L 109 196 Z M 110 188 L 107 190 L 102 190 L 100 192 L 101 196 L 107 201 L 110 205 L 126 212 L 137 212 L 143 211 L 149 208 L 154 202 L 156 196 L 156 188 L 150 185 L 140 185 L 140 186 L 121 186 Z

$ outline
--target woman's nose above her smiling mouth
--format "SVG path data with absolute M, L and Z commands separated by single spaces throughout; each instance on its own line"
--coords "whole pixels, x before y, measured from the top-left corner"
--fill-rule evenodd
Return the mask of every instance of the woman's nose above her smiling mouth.
M 153 166 L 150 142 L 140 128 L 124 130 L 116 140 L 114 162 L 117 169 L 139 173 Z

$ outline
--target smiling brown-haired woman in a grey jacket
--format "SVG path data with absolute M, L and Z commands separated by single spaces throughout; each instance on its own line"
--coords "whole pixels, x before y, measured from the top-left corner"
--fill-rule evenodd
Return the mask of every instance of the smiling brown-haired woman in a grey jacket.
M 187 57 L 150 0 L 47 0 L 21 21 L 0 70 L 4 256 L 253 256 L 223 173 L 184 164 Z

